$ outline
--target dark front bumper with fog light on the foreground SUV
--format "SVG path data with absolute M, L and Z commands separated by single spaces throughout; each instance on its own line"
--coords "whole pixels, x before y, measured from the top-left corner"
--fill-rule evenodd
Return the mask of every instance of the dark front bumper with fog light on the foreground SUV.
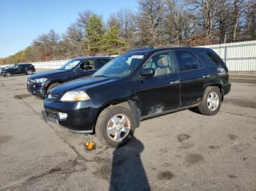
M 72 133 L 93 133 L 99 110 L 92 106 L 91 101 L 64 103 L 45 99 L 44 107 L 42 116 L 45 121 L 56 123 Z M 60 112 L 67 114 L 67 118 L 61 119 Z

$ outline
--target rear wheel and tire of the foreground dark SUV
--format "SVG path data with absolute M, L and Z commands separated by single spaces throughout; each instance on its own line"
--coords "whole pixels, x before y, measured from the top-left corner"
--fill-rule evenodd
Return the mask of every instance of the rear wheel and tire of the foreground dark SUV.
M 221 105 L 222 96 L 219 92 L 219 87 L 206 87 L 203 99 L 198 106 L 199 112 L 205 115 L 214 115 L 219 112 Z

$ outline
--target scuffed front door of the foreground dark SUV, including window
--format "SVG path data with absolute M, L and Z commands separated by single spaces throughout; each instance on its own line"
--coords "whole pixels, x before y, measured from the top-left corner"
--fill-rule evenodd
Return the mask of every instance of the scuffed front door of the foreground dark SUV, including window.
M 141 117 L 154 116 L 176 109 L 180 105 L 179 77 L 170 51 L 158 52 L 143 64 L 143 69 L 154 69 L 154 77 L 139 79 L 136 95 L 140 101 Z

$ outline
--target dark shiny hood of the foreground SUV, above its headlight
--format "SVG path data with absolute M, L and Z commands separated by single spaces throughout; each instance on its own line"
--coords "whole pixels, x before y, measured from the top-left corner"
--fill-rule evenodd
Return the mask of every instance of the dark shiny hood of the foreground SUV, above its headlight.
M 120 79 L 113 77 L 83 77 L 70 82 L 59 85 L 53 88 L 50 93 L 63 94 L 71 90 L 88 90 L 92 87 L 98 87 L 100 85 L 106 85 L 110 82 L 118 81 Z

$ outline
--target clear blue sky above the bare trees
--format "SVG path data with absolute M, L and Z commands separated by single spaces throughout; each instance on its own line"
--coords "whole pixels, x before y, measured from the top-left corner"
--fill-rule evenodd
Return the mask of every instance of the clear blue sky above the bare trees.
M 50 29 L 64 34 L 79 12 L 90 9 L 106 19 L 137 5 L 137 0 L 0 0 L 0 58 L 23 50 Z

